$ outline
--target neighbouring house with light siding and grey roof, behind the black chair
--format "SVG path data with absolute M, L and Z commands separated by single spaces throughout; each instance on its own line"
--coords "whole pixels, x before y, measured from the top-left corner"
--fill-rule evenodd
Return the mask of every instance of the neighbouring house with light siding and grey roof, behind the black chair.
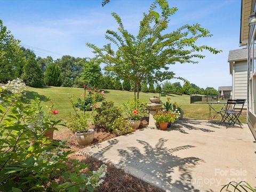
M 247 109 L 247 48 L 232 50 L 228 54 L 229 71 L 232 75 L 232 98 L 246 99 Z

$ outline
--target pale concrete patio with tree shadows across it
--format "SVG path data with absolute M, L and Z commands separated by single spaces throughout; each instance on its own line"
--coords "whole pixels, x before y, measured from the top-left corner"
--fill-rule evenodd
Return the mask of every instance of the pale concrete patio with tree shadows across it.
M 229 181 L 256 186 L 256 143 L 247 127 L 184 120 L 168 131 L 144 129 L 87 147 L 83 154 L 165 191 L 220 191 Z

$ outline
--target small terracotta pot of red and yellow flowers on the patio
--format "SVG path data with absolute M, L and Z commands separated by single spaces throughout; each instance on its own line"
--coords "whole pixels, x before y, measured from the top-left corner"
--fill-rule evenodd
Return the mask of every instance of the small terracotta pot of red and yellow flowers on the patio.
M 169 122 L 174 122 L 177 114 L 172 113 L 172 111 L 158 110 L 153 115 L 154 119 L 157 123 L 159 123 L 159 127 L 162 130 L 167 129 L 167 125 Z

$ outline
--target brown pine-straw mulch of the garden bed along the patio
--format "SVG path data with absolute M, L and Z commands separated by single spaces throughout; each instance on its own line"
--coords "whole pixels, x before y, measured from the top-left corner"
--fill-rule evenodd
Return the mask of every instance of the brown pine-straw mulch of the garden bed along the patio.
M 144 118 L 141 121 L 140 129 L 146 127 L 148 125 L 148 118 Z M 97 143 L 107 141 L 109 139 L 113 139 L 118 137 L 117 134 L 103 132 L 99 129 L 94 129 L 94 140 L 90 145 L 95 145 Z M 79 153 L 79 150 L 84 148 L 85 146 L 79 146 L 75 134 L 72 131 L 64 131 L 64 132 L 55 132 L 54 140 L 66 140 L 67 145 L 71 148 L 71 150 L 75 151 L 75 153 L 70 154 L 70 159 L 78 159 L 78 161 L 89 164 L 88 170 L 94 171 L 99 169 L 99 167 L 103 164 L 103 162 L 99 161 L 90 156 L 84 156 Z M 100 188 L 96 191 L 99 192 L 115 192 L 115 191 L 139 191 L 139 192 L 159 192 L 162 191 L 154 186 L 149 185 L 148 183 L 133 177 L 132 175 L 125 173 L 122 169 L 117 169 L 114 165 L 105 163 L 107 165 L 106 177 L 104 178 L 104 182 L 101 184 Z

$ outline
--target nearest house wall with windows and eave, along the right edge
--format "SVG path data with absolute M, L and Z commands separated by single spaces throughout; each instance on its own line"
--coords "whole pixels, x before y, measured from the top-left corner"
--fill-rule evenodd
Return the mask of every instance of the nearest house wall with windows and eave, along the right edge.
M 247 124 L 256 138 L 256 0 L 241 2 L 240 46 L 247 51 Z M 255 52 L 255 53 L 254 53 Z

